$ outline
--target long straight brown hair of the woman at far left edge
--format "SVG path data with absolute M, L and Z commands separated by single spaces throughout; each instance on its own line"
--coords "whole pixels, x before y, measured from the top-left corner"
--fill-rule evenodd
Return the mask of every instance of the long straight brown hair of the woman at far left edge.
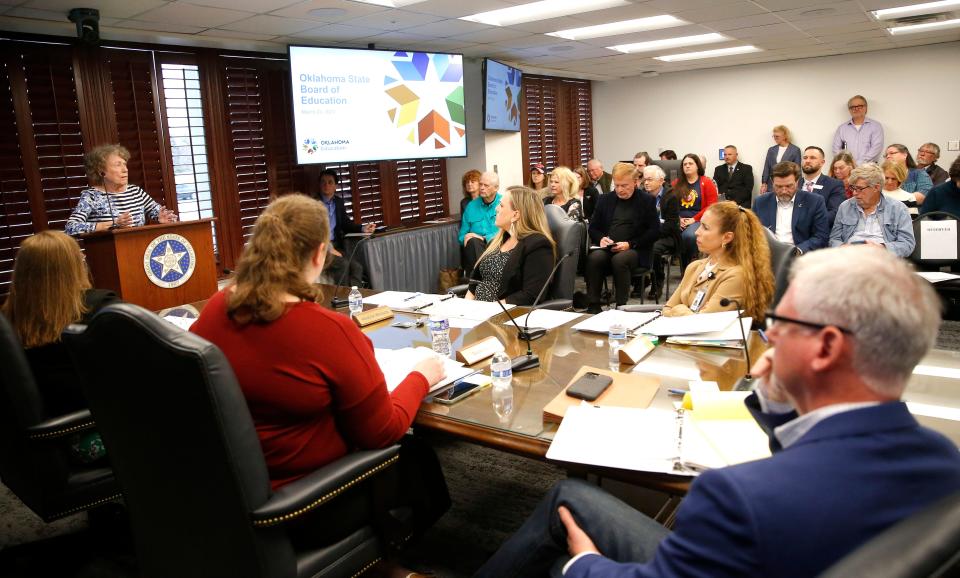
M 20 244 L 3 312 L 24 348 L 55 343 L 87 313 L 87 289 L 90 274 L 76 239 L 41 231 Z

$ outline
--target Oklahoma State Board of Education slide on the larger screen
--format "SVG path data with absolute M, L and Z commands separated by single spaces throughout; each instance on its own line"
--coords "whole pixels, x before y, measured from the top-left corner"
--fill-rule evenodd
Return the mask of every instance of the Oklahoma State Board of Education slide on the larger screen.
M 298 163 L 466 156 L 459 54 L 289 49 Z

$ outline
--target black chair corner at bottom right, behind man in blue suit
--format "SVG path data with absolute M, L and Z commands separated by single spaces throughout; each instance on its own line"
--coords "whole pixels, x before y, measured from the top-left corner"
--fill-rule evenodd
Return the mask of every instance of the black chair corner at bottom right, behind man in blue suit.
M 894 524 L 820 576 L 960 576 L 960 493 Z

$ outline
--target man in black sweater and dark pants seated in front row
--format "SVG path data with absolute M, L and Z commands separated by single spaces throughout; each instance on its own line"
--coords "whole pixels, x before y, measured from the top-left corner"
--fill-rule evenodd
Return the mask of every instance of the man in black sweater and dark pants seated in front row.
M 637 267 L 650 267 L 650 250 L 660 233 L 653 197 L 636 192 L 636 169 L 630 163 L 613 167 L 614 194 L 604 195 L 590 220 L 590 241 L 599 248 L 587 255 L 587 300 L 591 313 L 600 311 L 600 293 L 613 272 L 616 304 L 630 298 L 630 280 Z

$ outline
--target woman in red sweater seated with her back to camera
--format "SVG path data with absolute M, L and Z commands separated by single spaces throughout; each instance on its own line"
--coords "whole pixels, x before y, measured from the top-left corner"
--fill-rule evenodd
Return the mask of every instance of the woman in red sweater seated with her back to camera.
M 355 449 L 400 440 L 443 365 L 429 359 L 387 391 L 373 345 L 316 303 L 330 242 L 327 211 L 303 195 L 257 219 L 233 280 L 190 328 L 233 366 L 274 489 Z

